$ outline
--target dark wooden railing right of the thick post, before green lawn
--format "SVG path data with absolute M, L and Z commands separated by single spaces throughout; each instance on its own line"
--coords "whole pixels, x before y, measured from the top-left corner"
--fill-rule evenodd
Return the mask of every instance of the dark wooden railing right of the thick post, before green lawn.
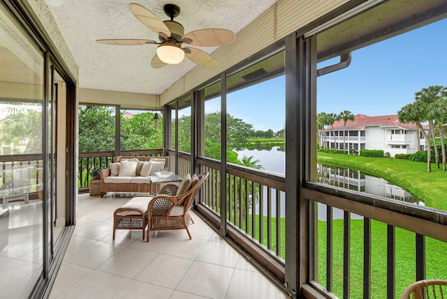
M 445 277 L 446 211 L 319 183 L 302 197 L 316 217 L 309 286 L 325 298 L 400 298 L 416 280 Z

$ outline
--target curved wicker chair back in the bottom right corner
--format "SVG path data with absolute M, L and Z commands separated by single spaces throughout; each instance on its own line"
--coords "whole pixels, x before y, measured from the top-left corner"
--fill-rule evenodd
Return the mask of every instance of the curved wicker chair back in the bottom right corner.
M 443 290 L 443 286 L 444 290 Z M 444 293 L 447 296 L 447 280 L 444 279 L 426 279 L 414 282 L 406 287 L 401 299 L 444 299 Z M 447 297 L 446 297 L 447 298 Z

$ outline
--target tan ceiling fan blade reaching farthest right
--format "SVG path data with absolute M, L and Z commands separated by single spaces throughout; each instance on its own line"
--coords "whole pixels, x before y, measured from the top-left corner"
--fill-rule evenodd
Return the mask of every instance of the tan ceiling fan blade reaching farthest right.
M 191 39 L 193 46 L 216 47 L 233 42 L 236 35 L 226 29 L 202 29 L 186 33 L 183 38 Z

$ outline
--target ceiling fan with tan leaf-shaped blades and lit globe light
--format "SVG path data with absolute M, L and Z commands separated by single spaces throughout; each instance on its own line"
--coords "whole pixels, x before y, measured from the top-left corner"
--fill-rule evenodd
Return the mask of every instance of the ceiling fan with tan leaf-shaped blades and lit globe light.
M 226 29 L 202 29 L 184 34 L 182 24 L 174 21 L 180 13 L 180 8 L 174 4 L 163 6 L 164 12 L 170 17 L 170 20 L 166 21 L 161 21 L 154 13 L 138 3 L 130 3 L 129 8 L 142 24 L 159 35 L 160 43 L 155 40 L 140 39 L 96 40 L 96 42 L 107 45 L 159 45 L 151 61 L 152 68 L 163 68 L 167 64 L 180 63 L 184 56 L 199 66 L 217 68 L 219 62 L 213 56 L 196 47 L 182 47 L 182 44 L 216 47 L 231 43 L 236 38 L 233 31 Z

